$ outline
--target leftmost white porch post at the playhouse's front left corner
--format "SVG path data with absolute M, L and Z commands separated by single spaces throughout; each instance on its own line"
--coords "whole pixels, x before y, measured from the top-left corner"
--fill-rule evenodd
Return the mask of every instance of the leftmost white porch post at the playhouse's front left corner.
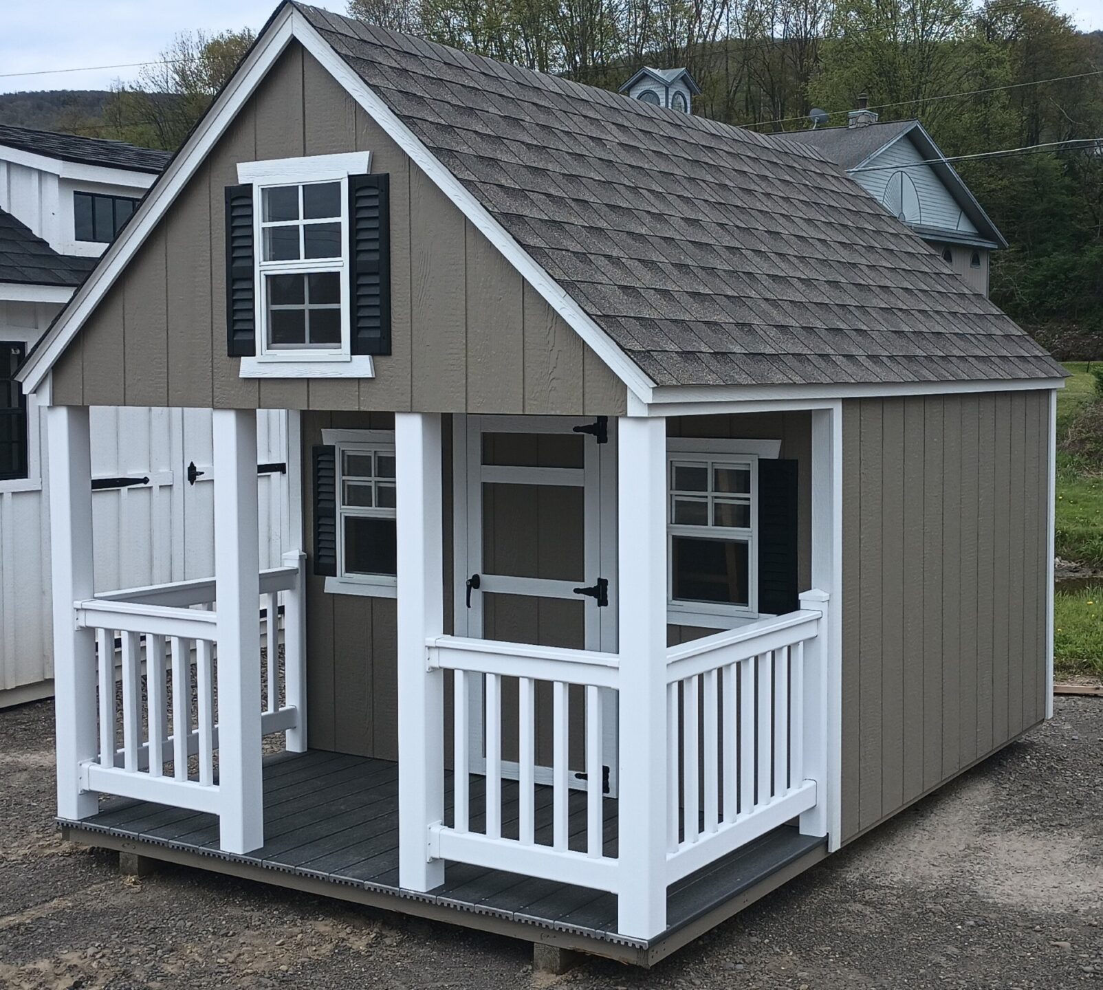
M 78 629 L 73 603 L 93 594 L 92 456 L 88 410 L 46 410 L 50 458 L 50 541 L 53 569 L 54 712 L 57 746 L 57 814 L 87 818 L 99 796 L 81 789 L 83 761 L 95 760 L 96 639 Z

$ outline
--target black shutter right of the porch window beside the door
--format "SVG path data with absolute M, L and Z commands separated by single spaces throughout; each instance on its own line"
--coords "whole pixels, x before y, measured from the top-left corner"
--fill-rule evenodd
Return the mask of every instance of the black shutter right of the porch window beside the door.
M 796 461 L 759 461 L 759 612 L 799 607 Z

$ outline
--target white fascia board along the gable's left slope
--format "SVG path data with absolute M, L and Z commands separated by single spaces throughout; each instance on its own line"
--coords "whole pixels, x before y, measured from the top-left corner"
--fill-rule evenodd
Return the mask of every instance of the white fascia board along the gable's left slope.
M 233 83 L 215 99 L 191 138 L 170 162 L 158 182 L 150 189 L 120 237 L 104 252 L 100 263 L 73 297 L 57 322 L 15 375 L 24 392 L 32 392 L 53 367 L 68 342 L 92 315 L 96 305 L 115 284 L 129 260 L 144 244 L 161 217 L 206 160 L 215 142 L 229 127 L 264 79 L 272 63 L 293 37 L 292 8 L 286 7 L 269 29 L 257 40 L 253 51 L 238 68 Z

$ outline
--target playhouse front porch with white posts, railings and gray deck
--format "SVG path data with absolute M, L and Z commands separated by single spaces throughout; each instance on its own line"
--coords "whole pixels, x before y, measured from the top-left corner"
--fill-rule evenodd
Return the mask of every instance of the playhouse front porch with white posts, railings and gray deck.
M 611 474 L 614 512 L 593 527 L 592 552 L 588 545 L 578 555 L 583 577 L 598 568 L 610 575 L 604 587 L 575 587 L 582 582 L 565 579 L 572 574 L 484 571 L 482 581 L 488 601 L 581 594 L 587 648 L 489 636 L 481 607 L 471 607 L 480 583 L 464 589 L 454 575 L 446 620 L 441 417 L 396 415 L 397 763 L 308 749 L 314 659 L 306 555 L 258 571 L 255 418 L 216 410 L 214 419 L 215 578 L 95 595 L 83 526 L 87 417 L 50 410 L 54 566 L 63 579 L 55 579 L 55 635 L 65 675 L 58 817 L 74 835 L 234 863 L 275 883 L 293 875 L 404 905 L 506 912 L 524 924 L 532 914 L 549 930 L 636 954 L 692 927 L 702 904 L 713 905 L 709 916 L 732 913 L 821 854 L 837 800 L 828 745 L 837 623 L 827 590 L 837 585 L 836 409 L 812 420 L 818 587 L 799 601 L 794 594 L 792 611 L 674 646 L 661 417 L 609 424 L 617 455 L 596 470 L 590 448 L 580 467 L 475 464 L 489 484 L 578 485 L 588 517 L 600 499 L 587 478 Z M 453 453 L 459 463 L 462 452 Z M 717 501 L 735 504 L 741 491 Z M 473 516 L 469 503 L 453 518 L 453 552 L 465 539 L 469 559 L 484 548 L 470 538 Z M 478 579 L 479 570 L 461 573 Z M 258 603 L 267 642 L 282 637 L 282 665 L 271 648 L 261 655 Z M 288 752 L 263 761 L 261 739 L 272 733 L 285 734 Z M 319 784 L 310 761 L 331 765 L 333 778 Z M 314 794 L 326 786 L 332 793 Z M 124 804 L 100 807 L 100 795 Z M 472 884 L 478 897 L 465 901 L 457 891 Z M 506 890 L 524 904 L 496 901 Z M 545 898 L 554 910 L 534 907 Z

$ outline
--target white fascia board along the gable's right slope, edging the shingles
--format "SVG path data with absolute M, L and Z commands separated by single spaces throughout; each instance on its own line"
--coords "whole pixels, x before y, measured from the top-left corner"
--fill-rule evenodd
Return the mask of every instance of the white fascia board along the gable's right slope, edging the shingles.
M 654 383 L 612 342 L 606 332 L 583 312 L 513 236 L 490 215 L 463 184 L 429 151 L 390 108 L 349 67 L 313 25 L 298 11 L 293 13 L 295 36 L 356 100 L 364 111 L 382 127 L 409 159 L 425 172 L 480 233 L 496 247 L 544 300 L 552 306 L 604 362 L 629 390 L 649 401 Z

